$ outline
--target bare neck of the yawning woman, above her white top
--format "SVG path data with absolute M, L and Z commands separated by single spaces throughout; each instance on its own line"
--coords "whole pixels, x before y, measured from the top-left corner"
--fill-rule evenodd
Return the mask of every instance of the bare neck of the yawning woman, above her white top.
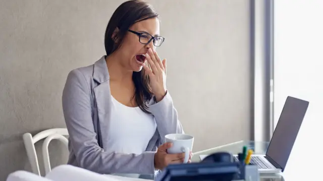
M 112 53 L 105 58 L 107 69 L 111 81 L 122 83 L 132 83 L 132 70 L 127 69 L 121 64 L 117 54 Z

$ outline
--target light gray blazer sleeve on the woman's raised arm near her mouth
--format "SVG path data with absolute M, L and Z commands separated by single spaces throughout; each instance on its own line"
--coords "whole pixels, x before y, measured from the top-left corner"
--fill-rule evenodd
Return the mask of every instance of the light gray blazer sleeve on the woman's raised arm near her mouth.
M 177 110 L 173 105 L 173 99 L 169 93 L 159 102 L 152 98 L 149 103 L 149 110 L 155 117 L 157 130 L 159 132 L 161 144 L 165 143 L 165 136 L 173 133 L 184 134 L 183 127 L 178 120 Z

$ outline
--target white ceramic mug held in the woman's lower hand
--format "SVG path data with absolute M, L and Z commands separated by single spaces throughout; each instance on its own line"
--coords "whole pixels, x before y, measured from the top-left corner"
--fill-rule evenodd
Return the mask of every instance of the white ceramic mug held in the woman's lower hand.
M 187 134 L 169 134 L 165 136 L 165 140 L 173 143 L 173 146 L 167 149 L 167 153 L 185 153 L 183 163 L 187 163 L 193 148 L 194 137 Z

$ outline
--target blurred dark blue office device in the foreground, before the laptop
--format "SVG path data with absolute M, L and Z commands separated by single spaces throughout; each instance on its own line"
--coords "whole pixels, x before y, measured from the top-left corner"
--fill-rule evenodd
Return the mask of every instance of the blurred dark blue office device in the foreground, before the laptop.
M 156 178 L 158 181 L 258 181 L 256 165 L 234 161 L 227 152 L 208 155 L 201 162 L 169 165 Z

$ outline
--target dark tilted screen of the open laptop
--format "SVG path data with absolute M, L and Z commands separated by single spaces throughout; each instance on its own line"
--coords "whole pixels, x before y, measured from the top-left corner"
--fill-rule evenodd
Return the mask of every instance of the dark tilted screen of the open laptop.
M 266 152 L 266 157 L 274 160 L 282 170 L 285 169 L 307 107 L 308 101 L 290 96 L 286 99 Z

